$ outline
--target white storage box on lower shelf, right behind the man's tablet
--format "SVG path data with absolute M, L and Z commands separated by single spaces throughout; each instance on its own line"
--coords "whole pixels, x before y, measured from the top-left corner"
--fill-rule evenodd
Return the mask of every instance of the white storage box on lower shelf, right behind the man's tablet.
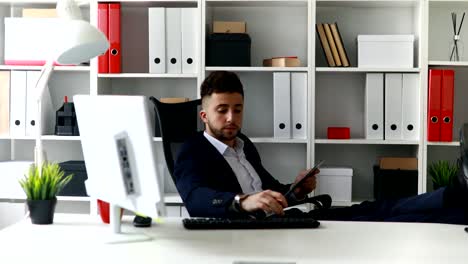
M 333 202 L 350 203 L 353 169 L 323 167 L 317 175 L 317 194 L 329 194 Z

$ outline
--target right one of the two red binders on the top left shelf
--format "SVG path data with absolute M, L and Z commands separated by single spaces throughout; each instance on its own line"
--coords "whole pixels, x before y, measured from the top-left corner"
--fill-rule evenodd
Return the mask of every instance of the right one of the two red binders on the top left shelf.
M 120 3 L 109 4 L 109 73 L 120 73 Z

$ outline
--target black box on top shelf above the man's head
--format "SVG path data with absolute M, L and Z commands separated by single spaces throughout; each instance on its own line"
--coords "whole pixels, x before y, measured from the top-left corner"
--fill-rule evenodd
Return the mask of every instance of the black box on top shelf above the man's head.
M 250 66 L 250 36 L 213 33 L 206 41 L 206 66 Z

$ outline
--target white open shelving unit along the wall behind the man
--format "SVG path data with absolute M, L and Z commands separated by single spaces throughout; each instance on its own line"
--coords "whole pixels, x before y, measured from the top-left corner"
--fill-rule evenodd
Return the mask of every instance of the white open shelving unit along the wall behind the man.
M 97 1 L 78 1 L 85 19 L 97 25 Z M 245 116 L 242 131 L 258 147 L 265 167 L 282 182 L 291 182 L 300 169 L 315 160 L 325 159 L 329 165 L 351 166 L 353 201 L 373 198 L 372 165 L 381 156 L 418 157 L 418 193 L 431 189 L 426 167 L 434 160 L 456 160 L 458 132 L 456 127 L 468 121 L 464 98 L 468 89 L 468 25 L 462 29 L 465 55 L 460 62 L 448 61 L 451 40 L 450 12 L 468 10 L 468 1 L 434 0 L 126 0 L 121 3 L 122 73 L 98 74 L 97 60 L 89 66 L 57 67 L 50 81 L 55 109 L 62 98 L 75 94 L 136 94 L 155 97 L 199 97 L 199 87 L 212 71 L 238 73 L 245 89 Z M 23 7 L 54 7 L 56 1 L 0 0 L 0 18 L 18 16 Z M 196 39 L 197 71 L 193 74 L 151 74 L 148 57 L 149 7 L 195 7 L 200 23 Z M 205 38 L 212 22 L 245 21 L 252 39 L 251 67 L 211 67 L 205 62 Z M 316 23 L 337 22 L 351 67 L 326 67 Z M 466 23 L 465 23 L 466 24 Z M 413 34 L 414 67 L 358 68 L 356 37 L 359 34 Z M 4 33 L 0 31 L 0 43 Z M 3 44 L 0 44 L 0 54 Z M 298 56 L 301 67 L 262 67 L 262 60 L 276 56 Z M 37 66 L 1 65 L 0 71 L 38 71 Z M 427 142 L 427 71 L 432 67 L 454 68 L 455 128 L 453 142 Z M 307 138 L 278 139 L 273 136 L 273 73 L 302 72 L 308 77 Z M 364 138 L 364 87 L 369 72 L 414 73 L 419 75 L 420 127 L 419 140 L 387 141 Z M 54 113 L 51 113 L 54 115 Z M 351 127 L 350 140 L 326 139 L 328 126 Z M 83 159 L 79 137 L 43 136 L 48 157 L 55 161 Z M 161 138 L 153 138 L 160 173 L 165 175 L 167 202 L 181 204 L 169 173 L 165 168 Z M 0 136 L 0 160 L 33 159 L 34 141 L 30 137 Z M 92 201 L 60 197 L 64 204 L 93 211 Z M 78 204 L 78 205 L 76 205 Z M 83 207 L 80 207 L 83 209 Z M 81 210 L 80 209 L 80 210 Z

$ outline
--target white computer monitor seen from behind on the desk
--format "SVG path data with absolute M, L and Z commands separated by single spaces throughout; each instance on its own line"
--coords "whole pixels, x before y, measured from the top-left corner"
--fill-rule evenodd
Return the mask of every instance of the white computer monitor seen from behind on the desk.
M 166 215 L 157 173 L 147 98 L 73 97 L 88 174 L 87 192 L 110 203 L 110 224 L 120 233 L 120 209 L 152 218 Z

